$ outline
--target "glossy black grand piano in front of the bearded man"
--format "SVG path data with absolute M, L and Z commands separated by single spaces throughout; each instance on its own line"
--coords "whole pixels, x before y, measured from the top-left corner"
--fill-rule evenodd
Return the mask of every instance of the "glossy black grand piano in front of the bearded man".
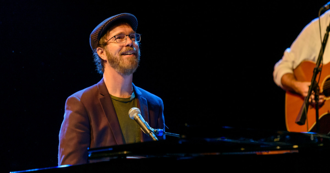
M 215 133 L 89 149 L 89 163 L 12 173 L 320 172 L 328 171 L 330 136 L 222 127 Z M 210 129 L 211 130 L 211 129 Z M 191 135 L 194 134 L 194 135 Z M 213 134 L 213 135 L 210 135 Z

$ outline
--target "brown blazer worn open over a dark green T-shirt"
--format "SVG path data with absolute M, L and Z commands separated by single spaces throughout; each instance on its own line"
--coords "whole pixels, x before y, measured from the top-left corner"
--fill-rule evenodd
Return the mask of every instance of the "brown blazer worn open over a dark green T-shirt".
M 152 128 L 165 130 L 162 99 L 134 84 L 133 90 L 144 120 Z M 58 165 L 87 163 L 88 147 L 124 144 L 121 133 L 110 94 L 101 79 L 67 98 L 59 135 Z M 164 140 L 165 135 L 158 139 Z M 152 140 L 141 130 L 141 142 L 146 141 Z

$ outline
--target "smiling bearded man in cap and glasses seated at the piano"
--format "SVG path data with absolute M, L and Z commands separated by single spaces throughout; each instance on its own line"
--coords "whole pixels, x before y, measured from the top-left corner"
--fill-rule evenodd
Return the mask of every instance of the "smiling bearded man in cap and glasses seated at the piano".
M 141 36 L 136 29 L 135 16 L 124 13 L 107 18 L 92 31 L 90 46 L 103 78 L 67 98 L 59 165 L 87 163 L 87 148 L 152 141 L 130 119 L 133 107 L 141 110 L 150 127 L 165 130 L 162 99 L 132 83 L 140 61 Z

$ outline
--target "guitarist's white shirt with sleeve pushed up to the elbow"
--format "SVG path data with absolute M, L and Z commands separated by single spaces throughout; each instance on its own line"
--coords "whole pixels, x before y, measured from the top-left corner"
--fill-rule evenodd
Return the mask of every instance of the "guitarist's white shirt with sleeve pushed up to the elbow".
M 330 24 L 330 10 L 320 16 L 322 40 Z M 323 64 L 330 62 L 330 38 L 323 53 Z M 321 38 L 318 18 L 312 20 L 298 35 L 290 48 L 284 51 L 282 59 L 275 64 L 273 77 L 275 83 L 283 88 L 281 78 L 293 70 L 302 61 L 317 61 L 321 49 Z

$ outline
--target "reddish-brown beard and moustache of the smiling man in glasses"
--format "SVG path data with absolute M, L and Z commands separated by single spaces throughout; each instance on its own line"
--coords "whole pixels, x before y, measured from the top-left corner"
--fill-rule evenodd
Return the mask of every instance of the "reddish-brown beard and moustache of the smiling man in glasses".
M 136 51 L 135 56 L 123 59 L 122 52 L 135 50 L 133 47 L 127 47 L 125 50 L 119 52 L 119 56 L 115 56 L 107 49 L 105 49 L 109 65 L 115 69 L 117 73 L 124 76 L 129 76 L 135 72 L 140 62 L 140 49 Z

